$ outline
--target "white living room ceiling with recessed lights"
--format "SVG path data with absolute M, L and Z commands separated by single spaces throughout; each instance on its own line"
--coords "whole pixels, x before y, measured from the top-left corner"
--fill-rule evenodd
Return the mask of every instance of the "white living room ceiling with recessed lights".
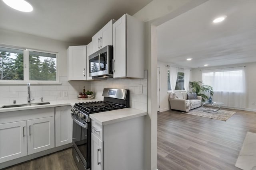
M 189 68 L 256 62 L 255 9 L 254 0 L 209 0 L 159 25 L 158 61 Z

